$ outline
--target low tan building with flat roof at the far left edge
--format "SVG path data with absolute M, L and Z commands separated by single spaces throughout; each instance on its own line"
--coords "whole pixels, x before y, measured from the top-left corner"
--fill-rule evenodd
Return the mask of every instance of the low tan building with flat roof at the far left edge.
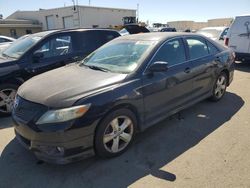
M 42 31 L 42 25 L 32 20 L 0 19 L 0 35 L 13 38 Z

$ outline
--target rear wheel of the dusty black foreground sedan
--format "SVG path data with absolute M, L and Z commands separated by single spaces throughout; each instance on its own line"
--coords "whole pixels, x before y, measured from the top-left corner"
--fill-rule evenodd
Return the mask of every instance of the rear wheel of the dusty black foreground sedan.
M 226 93 L 227 83 L 227 75 L 224 72 L 220 73 L 213 87 L 213 95 L 210 98 L 212 101 L 217 102 L 223 98 Z

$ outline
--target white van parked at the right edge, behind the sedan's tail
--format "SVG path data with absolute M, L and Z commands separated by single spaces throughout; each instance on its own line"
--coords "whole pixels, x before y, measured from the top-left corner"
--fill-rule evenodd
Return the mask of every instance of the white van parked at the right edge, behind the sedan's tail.
M 228 30 L 225 45 L 235 52 L 236 60 L 250 60 L 250 15 L 235 17 Z

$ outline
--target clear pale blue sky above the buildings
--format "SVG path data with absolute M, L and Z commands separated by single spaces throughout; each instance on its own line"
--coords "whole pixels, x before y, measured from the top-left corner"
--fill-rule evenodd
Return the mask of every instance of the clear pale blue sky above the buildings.
M 16 10 L 38 10 L 71 6 L 72 0 L 0 0 L 6 18 Z M 89 0 L 78 0 L 88 5 Z M 166 23 L 177 20 L 207 21 L 213 18 L 250 14 L 250 0 L 91 0 L 91 6 L 137 9 L 139 20 Z

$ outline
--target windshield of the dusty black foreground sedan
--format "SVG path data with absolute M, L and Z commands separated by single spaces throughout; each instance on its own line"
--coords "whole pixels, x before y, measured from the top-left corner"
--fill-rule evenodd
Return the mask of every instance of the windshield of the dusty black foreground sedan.
M 83 60 L 83 65 L 109 72 L 128 74 L 134 71 L 154 41 L 119 41 L 107 44 Z

